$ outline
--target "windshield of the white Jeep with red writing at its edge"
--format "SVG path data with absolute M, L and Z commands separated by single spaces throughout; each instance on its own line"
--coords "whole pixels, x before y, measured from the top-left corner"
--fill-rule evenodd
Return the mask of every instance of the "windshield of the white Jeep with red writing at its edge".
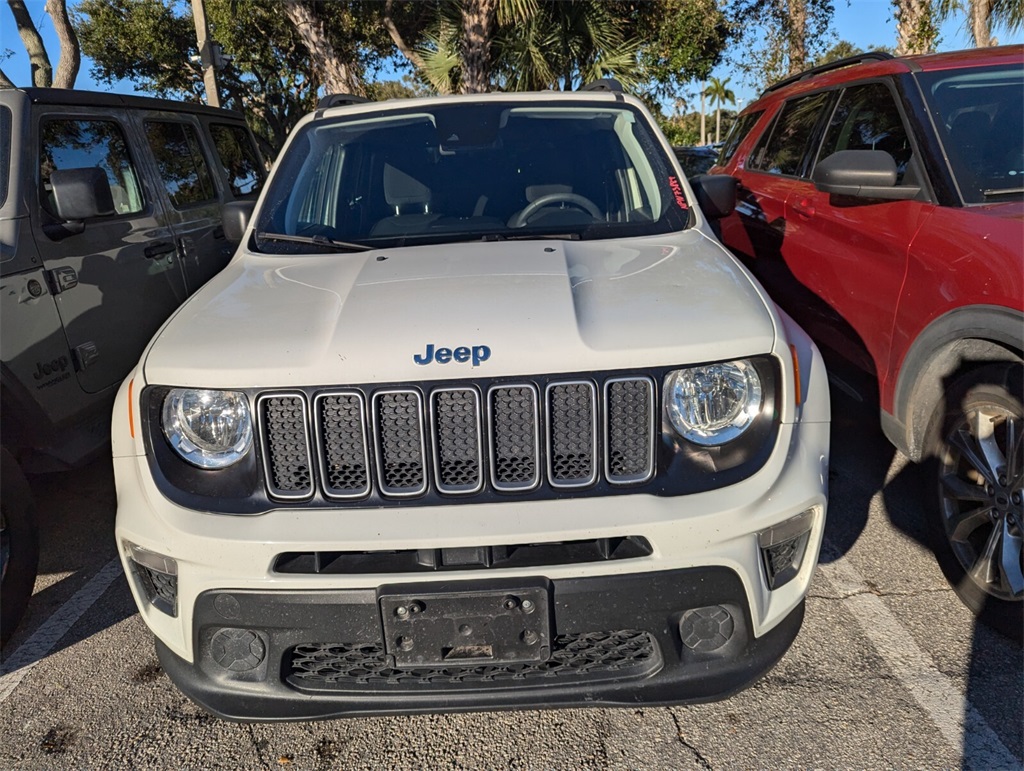
M 679 180 L 629 105 L 422 103 L 304 126 L 256 248 L 298 253 L 685 227 Z

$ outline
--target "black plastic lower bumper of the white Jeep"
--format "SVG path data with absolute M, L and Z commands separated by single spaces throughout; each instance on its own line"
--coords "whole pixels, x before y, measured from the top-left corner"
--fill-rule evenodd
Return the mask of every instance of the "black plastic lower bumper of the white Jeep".
M 488 620 L 477 599 L 464 598 L 470 590 L 512 609 Z M 429 619 L 417 598 L 445 608 L 444 617 Z M 517 602 L 536 615 L 526 619 Z M 424 610 L 419 627 L 401 627 L 410 608 Z M 801 603 L 755 638 L 739 577 L 721 567 L 354 591 L 218 591 L 196 604 L 195 665 L 159 640 L 157 651 L 178 688 L 229 720 L 635 706 L 710 701 L 752 685 L 785 653 L 803 616 Z M 489 627 L 486 640 L 475 639 L 481 627 Z M 416 631 L 399 636 L 401 629 Z M 460 646 L 460 635 L 489 644 Z M 422 650 L 424 640 L 452 644 L 418 660 L 410 651 Z M 522 640 L 536 652 L 526 652 Z M 463 648 L 467 657 L 443 657 Z

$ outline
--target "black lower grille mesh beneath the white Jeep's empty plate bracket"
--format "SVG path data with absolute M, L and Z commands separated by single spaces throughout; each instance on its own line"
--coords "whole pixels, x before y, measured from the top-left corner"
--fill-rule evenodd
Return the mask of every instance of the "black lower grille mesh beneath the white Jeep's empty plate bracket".
M 473 667 L 396 668 L 381 643 L 308 643 L 292 651 L 288 680 L 297 687 L 339 690 L 474 684 L 493 688 L 528 681 L 645 677 L 660 667 L 660 649 L 649 633 L 622 630 L 561 635 L 547 661 Z

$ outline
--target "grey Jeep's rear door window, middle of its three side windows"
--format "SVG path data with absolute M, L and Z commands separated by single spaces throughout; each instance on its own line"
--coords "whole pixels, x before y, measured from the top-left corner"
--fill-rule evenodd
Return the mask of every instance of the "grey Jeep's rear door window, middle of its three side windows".
M 216 199 L 210 169 L 191 126 L 147 121 L 145 136 L 150 140 L 153 157 L 157 159 L 167 197 L 175 209 Z

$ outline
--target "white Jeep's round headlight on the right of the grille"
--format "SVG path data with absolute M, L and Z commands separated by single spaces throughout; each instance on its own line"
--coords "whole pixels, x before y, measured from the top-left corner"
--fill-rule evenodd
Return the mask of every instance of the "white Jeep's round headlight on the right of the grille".
M 716 446 L 745 431 L 761 411 L 761 378 L 750 359 L 669 373 L 666 412 L 688 441 Z

